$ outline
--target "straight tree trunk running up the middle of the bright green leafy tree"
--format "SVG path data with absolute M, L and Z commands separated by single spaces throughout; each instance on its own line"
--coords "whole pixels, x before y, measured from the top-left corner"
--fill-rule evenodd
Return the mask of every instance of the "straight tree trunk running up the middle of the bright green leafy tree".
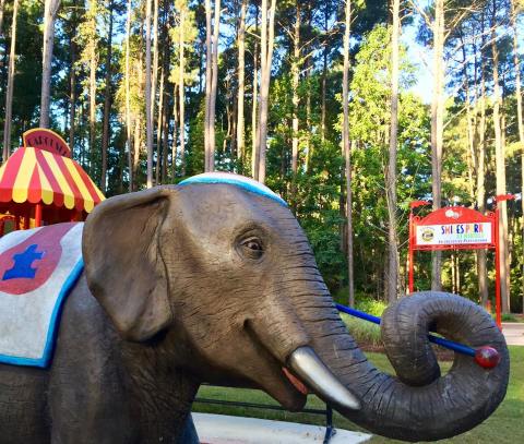
M 393 0 L 393 33 L 391 39 L 391 125 L 390 125 L 390 153 L 386 175 L 388 196 L 388 269 L 386 283 L 388 300 L 393 302 L 398 289 L 398 240 L 396 236 L 396 145 L 398 132 L 398 36 L 400 0 Z

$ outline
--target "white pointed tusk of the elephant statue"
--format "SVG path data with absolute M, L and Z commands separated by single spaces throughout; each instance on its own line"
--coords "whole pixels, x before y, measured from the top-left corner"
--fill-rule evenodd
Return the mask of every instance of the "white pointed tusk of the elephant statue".
M 297 348 L 289 355 L 287 367 L 324 400 L 360 410 L 360 400 L 336 379 L 311 347 Z

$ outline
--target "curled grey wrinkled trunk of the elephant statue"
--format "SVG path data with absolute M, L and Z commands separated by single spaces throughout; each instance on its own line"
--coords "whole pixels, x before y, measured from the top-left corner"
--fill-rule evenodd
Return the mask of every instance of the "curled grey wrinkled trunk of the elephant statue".
M 383 316 L 382 338 L 397 373 L 394 377 L 366 359 L 329 302 L 327 290 L 322 292 L 313 298 L 314 312 L 309 298 L 300 304 L 299 316 L 312 348 L 359 398 L 360 410 L 334 406 L 352 421 L 394 439 L 440 440 L 483 422 L 503 399 L 509 379 L 505 341 L 491 317 L 473 302 L 425 292 L 392 304 Z M 491 346 L 501 360 L 495 369 L 485 370 L 471 357 L 455 353 L 451 370 L 441 376 L 428 343 L 429 331 L 473 348 Z

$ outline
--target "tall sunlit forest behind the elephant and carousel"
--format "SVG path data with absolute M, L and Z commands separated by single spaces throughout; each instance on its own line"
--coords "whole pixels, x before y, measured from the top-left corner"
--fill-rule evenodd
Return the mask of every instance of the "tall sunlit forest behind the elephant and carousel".
M 523 11 L 523 0 L 0 0 L 2 160 L 44 127 L 108 196 L 203 171 L 251 176 L 289 202 L 352 305 L 406 292 L 412 201 L 486 213 L 513 193 L 501 204 L 502 309 L 522 312 Z M 417 254 L 418 289 L 487 305 L 493 281 L 492 252 Z

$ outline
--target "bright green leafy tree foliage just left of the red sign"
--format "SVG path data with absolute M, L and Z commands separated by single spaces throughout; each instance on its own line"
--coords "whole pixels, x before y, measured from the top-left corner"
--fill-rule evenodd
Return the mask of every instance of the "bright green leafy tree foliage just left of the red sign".
M 385 168 L 390 121 L 390 29 L 379 25 L 367 34 L 356 55 L 350 84 L 350 132 L 353 144 L 353 201 L 356 288 L 382 297 L 386 251 L 388 207 Z M 429 192 L 429 115 L 427 106 L 406 88 L 413 83 L 414 67 L 401 50 L 398 112 L 397 226 L 398 239 L 407 241 L 409 202 Z M 342 125 L 342 115 L 338 128 Z M 366 252 L 366 254 L 362 254 Z M 405 249 L 401 250 L 401 263 Z

